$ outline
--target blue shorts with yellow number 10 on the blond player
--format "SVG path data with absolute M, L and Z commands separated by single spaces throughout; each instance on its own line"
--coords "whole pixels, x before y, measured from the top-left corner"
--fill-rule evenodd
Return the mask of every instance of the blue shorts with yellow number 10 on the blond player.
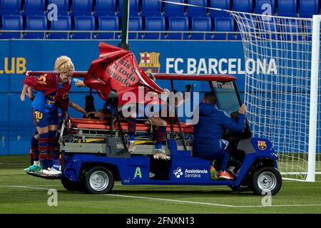
M 33 111 L 34 125 L 39 128 L 45 128 L 49 125 L 58 125 L 58 110 L 54 109 L 50 113 L 42 113 L 39 110 Z

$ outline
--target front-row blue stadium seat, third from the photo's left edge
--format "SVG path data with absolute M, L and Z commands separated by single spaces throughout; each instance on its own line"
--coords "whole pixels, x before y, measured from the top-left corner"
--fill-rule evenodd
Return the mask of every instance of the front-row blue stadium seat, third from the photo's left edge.
M 51 21 L 52 31 L 71 31 L 71 16 L 58 16 L 57 21 Z M 70 38 L 66 32 L 49 33 L 48 38 Z

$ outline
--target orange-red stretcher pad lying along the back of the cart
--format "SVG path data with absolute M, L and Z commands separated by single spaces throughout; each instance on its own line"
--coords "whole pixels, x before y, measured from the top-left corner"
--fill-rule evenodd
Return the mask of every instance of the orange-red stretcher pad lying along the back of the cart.
M 108 120 L 94 120 L 94 119 L 86 119 L 86 118 L 70 118 L 71 127 L 72 128 L 87 128 L 87 129 L 101 129 L 101 130 L 111 130 L 111 125 L 108 123 Z M 194 126 L 186 125 L 185 123 L 180 124 L 183 133 L 193 133 Z M 118 130 L 118 123 L 116 122 L 114 128 Z M 127 123 L 121 123 L 122 130 L 128 130 Z M 150 130 L 151 125 L 146 125 L 144 123 L 136 123 L 136 131 L 137 132 L 146 132 Z M 166 128 L 167 132 L 170 132 L 170 123 Z M 173 125 L 174 133 L 179 133 L 180 129 L 178 124 Z

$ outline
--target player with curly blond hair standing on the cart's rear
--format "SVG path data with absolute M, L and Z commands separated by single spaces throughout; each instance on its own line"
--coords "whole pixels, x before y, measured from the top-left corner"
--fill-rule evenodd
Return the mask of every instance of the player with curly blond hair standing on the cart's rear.
M 66 113 L 65 118 L 68 118 L 70 78 L 75 71 L 71 58 L 68 58 L 68 56 L 57 58 L 54 69 L 56 73 L 46 73 L 40 77 L 27 76 L 20 97 L 21 101 L 25 100 L 29 86 L 38 91 L 31 106 L 34 108 L 34 124 L 39 133 L 39 158 L 44 175 L 60 174 L 60 171 L 53 167 L 58 128 L 58 108 L 61 108 Z

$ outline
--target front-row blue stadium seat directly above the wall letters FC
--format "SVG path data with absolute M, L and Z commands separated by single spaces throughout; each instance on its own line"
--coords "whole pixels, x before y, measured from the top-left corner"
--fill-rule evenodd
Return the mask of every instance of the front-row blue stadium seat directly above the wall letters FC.
M 168 17 L 168 31 L 188 31 L 188 17 Z M 188 33 L 168 33 L 168 39 L 188 39 Z

